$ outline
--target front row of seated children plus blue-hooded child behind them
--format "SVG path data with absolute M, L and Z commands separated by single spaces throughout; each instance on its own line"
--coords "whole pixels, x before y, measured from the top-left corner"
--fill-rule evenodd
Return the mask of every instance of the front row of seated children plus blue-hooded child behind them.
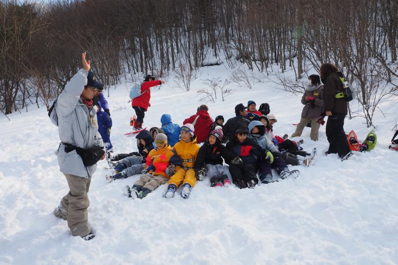
M 108 181 L 141 173 L 131 188 L 124 188 L 126 196 L 142 199 L 168 183 L 164 197 L 173 198 L 181 185 L 180 195 L 187 199 L 196 181 L 206 176 L 211 187 L 222 187 L 231 185 L 230 175 L 232 182 L 243 189 L 258 184 L 258 171 L 263 184 L 278 181 L 273 178 L 272 169 L 281 179 L 299 175 L 298 170 L 289 170 L 283 153 L 275 145 L 267 116 L 261 115 L 259 121 L 252 121 L 249 126 L 236 123 L 226 146 L 222 144 L 223 122 L 224 118 L 217 116 L 207 140 L 199 146 L 192 124 L 180 128 L 172 123 L 169 114 L 162 115 L 161 129 L 154 127 L 137 134 L 138 152 L 111 156 L 111 160 L 118 162 L 114 165 L 116 174 L 107 176 Z

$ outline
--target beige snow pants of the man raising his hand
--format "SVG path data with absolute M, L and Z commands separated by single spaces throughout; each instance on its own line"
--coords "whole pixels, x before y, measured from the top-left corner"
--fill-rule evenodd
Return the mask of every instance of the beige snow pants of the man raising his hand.
M 62 206 L 68 211 L 68 227 L 73 236 L 85 236 L 91 232 L 87 208 L 90 206 L 89 192 L 91 179 L 66 174 L 69 193 L 61 199 Z

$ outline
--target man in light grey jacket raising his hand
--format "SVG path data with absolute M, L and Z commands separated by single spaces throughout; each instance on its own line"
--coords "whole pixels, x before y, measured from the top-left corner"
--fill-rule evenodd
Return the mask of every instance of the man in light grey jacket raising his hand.
M 73 236 L 90 240 L 95 235 L 88 222 L 87 208 L 90 201 L 87 193 L 97 165 L 86 167 L 74 147 L 103 147 L 98 133 L 97 107 L 93 104 L 94 90 L 103 87 L 103 84 L 90 71 L 90 61 L 86 61 L 86 53 L 82 54 L 82 66 L 66 84 L 50 114 L 52 122 L 58 125 L 61 140 L 57 151 L 58 164 L 69 186 L 69 193 L 54 209 L 54 215 L 68 221 Z M 104 157 L 105 155 L 101 160 Z

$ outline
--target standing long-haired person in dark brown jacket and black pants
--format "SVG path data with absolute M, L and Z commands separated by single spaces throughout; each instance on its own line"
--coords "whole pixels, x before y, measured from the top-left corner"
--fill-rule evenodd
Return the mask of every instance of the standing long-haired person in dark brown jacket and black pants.
M 344 118 L 347 115 L 347 101 L 344 98 L 336 98 L 336 94 L 343 91 L 343 84 L 339 79 L 342 73 L 337 67 L 326 63 L 320 67 L 320 78 L 324 83 L 323 101 L 325 113 L 328 116 L 326 123 L 326 136 L 329 141 L 329 149 L 326 154 L 338 153 L 340 159 L 346 160 L 353 153 L 348 146 L 344 132 Z

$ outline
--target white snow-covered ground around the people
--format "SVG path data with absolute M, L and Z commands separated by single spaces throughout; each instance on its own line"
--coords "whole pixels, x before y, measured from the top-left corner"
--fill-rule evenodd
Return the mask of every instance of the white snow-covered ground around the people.
M 181 124 L 203 103 L 196 93 L 201 79 L 228 78 L 230 72 L 223 65 L 203 67 L 189 92 L 173 89 L 170 78 L 152 90 L 145 127 L 160 126 L 164 113 Z M 134 136 L 123 135 L 134 113 L 128 87 L 120 85 L 110 95 L 114 149 L 136 150 Z M 277 135 L 294 132 L 302 109 L 300 96 L 264 83 L 235 87 L 225 102 L 220 98 L 207 104 L 213 118 L 233 117 L 234 106 L 248 100 L 268 102 L 278 119 Z M 52 214 L 68 186 L 54 155 L 57 128 L 45 108 L 9 115 L 10 122 L 0 116 L 0 264 L 397 264 L 398 152 L 388 149 L 397 105 L 385 103 L 386 117 L 376 115 L 373 151 L 345 162 L 326 157 L 325 126 L 318 142 L 306 128 L 302 146 L 318 148 L 316 164 L 291 167 L 300 170 L 297 179 L 254 190 L 210 188 L 206 179 L 189 199 L 162 198 L 164 185 L 132 200 L 122 187 L 139 176 L 107 184 L 101 161 L 89 193 L 97 234 L 89 242 L 72 237 L 66 221 Z M 360 140 L 370 131 L 362 118 L 346 119 L 345 130 L 352 129 Z

